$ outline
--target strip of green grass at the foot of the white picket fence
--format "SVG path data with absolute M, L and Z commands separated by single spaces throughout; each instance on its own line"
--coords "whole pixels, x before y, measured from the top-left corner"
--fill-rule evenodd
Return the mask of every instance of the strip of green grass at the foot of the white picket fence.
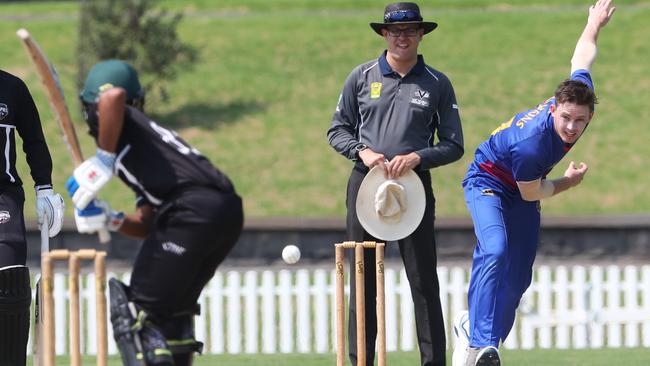
M 635 349 L 599 349 L 599 350 L 530 350 L 501 352 L 502 361 L 506 365 L 517 366 L 645 366 L 650 363 L 650 350 Z M 223 355 L 199 356 L 195 358 L 195 366 L 330 366 L 335 363 L 334 354 L 325 355 Z M 58 365 L 66 363 L 67 358 L 59 357 Z M 84 358 L 85 364 L 92 364 L 93 358 Z M 29 362 L 28 362 L 29 363 Z M 417 352 L 388 353 L 387 363 L 390 366 L 412 366 L 419 364 Z M 448 355 L 451 364 L 451 354 Z M 109 366 L 121 365 L 118 357 L 109 359 Z

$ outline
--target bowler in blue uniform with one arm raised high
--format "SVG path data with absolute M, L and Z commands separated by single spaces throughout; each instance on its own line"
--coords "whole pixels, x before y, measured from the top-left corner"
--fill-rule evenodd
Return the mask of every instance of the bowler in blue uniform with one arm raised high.
M 501 364 L 499 342 L 508 336 L 532 278 L 539 200 L 580 184 L 587 172 L 585 163 L 576 167 L 571 162 L 563 177 L 546 178 L 593 117 L 596 95 L 590 70 L 598 33 L 615 11 L 610 5 L 611 0 L 598 0 L 589 8 L 570 79 L 555 96 L 495 129 L 476 150 L 463 180 L 478 243 L 469 287 L 469 330 L 463 326 L 467 313 L 454 324 L 459 336 L 454 366 Z

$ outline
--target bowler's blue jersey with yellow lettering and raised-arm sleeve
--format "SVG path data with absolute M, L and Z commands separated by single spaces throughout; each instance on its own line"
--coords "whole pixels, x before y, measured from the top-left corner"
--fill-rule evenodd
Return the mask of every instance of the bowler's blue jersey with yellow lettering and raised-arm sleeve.
M 571 80 L 581 81 L 594 89 L 587 70 L 576 70 Z M 516 114 L 497 127 L 476 149 L 463 186 L 468 180 L 482 178 L 484 186 L 518 195 L 517 181 L 546 177 L 571 148 L 553 127 L 551 105 L 555 105 L 555 97 Z

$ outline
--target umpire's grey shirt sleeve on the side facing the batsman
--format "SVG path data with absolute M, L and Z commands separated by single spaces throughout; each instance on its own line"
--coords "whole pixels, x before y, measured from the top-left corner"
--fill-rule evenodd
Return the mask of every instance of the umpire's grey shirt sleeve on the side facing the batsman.
M 356 159 L 354 147 L 359 144 L 357 129 L 360 119 L 357 99 L 358 78 L 359 71 L 355 69 L 345 80 L 336 111 L 332 117 L 332 125 L 327 131 L 330 146 L 350 160 Z

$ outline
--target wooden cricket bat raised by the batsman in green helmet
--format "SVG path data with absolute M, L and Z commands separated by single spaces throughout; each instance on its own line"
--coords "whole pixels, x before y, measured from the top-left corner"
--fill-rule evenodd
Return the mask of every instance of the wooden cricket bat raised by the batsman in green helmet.
M 79 166 L 84 161 L 84 158 L 81 153 L 81 147 L 79 146 L 79 139 L 77 138 L 74 124 L 70 118 L 68 106 L 65 103 L 63 88 L 61 87 L 61 82 L 59 81 L 59 76 L 54 69 L 54 65 L 47 60 L 45 53 L 43 53 L 27 29 L 21 28 L 16 32 L 16 34 L 23 42 L 27 53 L 31 56 L 34 66 L 36 66 L 36 71 L 41 77 L 45 90 L 47 90 L 47 97 L 50 101 L 50 106 L 54 110 L 54 114 L 59 122 L 63 140 L 68 146 L 70 154 L 72 154 L 72 161 L 75 166 Z M 106 244 L 111 240 L 111 235 L 107 229 L 100 230 L 97 234 L 99 235 L 99 241 L 103 244 Z

